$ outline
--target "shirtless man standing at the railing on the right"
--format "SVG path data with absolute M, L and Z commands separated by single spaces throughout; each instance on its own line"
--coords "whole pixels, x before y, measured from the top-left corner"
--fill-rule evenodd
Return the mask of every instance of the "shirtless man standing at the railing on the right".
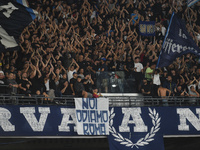
M 158 88 L 158 96 L 162 98 L 163 106 L 168 106 L 167 96 L 171 95 L 171 91 L 167 88 L 160 86 Z

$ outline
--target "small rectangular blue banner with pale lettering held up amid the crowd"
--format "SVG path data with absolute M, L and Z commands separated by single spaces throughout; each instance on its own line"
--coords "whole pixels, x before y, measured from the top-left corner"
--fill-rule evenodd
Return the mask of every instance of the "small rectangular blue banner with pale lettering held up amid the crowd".
M 155 21 L 140 21 L 139 30 L 140 35 L 155 36 Z

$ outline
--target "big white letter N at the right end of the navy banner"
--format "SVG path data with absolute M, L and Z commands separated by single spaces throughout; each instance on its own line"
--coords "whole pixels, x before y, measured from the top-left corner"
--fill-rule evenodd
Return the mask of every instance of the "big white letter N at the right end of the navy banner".
M 189 108 L 177 108 L 177 113 L 180 116 L 178 130 L 189 131 L 189 125 L 186 124 L 187 119 L 197 131 L 200 131 L 200 118 L 197 118 Z M 200 108 L 196 108 L 196 113 L 200 116 Z

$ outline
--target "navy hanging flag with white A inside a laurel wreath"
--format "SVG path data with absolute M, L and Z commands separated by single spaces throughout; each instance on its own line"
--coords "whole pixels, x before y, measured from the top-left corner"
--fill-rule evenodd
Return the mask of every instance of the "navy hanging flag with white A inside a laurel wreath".
M 110 150 L 164 150 L 160 114 L 155 109 L 143 110 L 139 107 L 111 109 Z

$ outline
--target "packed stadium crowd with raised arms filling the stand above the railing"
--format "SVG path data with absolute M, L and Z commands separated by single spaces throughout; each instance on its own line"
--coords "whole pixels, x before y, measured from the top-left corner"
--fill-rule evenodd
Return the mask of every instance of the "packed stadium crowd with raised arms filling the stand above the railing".
M 0 53 L 0 93 L 99 97 L 96 73 L 124 71 L 145 96 L 199 97 L 199 57 L 187 54 L 155 67 L 173 11 L 200 45 L 200 2 L 190 8 L 186 0 L 29 0 L 29 5 L 39 16 L 21 34 L 20 50 Z M 139 21 L 156 21 L 156 35 L 140 36 Z

